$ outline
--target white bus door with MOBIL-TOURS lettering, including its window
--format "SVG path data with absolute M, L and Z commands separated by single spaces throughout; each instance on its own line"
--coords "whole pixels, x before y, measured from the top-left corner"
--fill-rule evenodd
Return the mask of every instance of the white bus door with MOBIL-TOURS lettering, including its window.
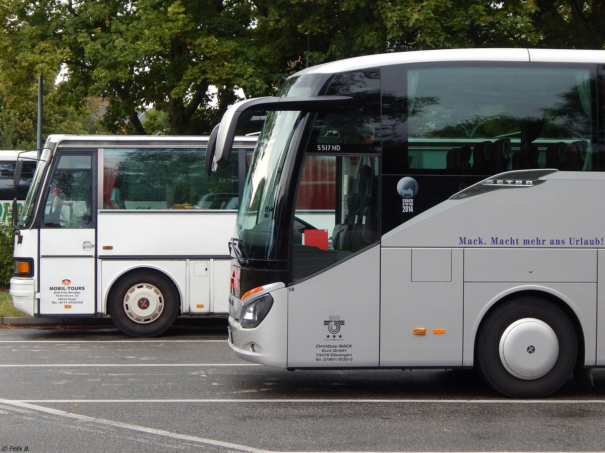
M 41 315 L 95 312 L 96 155 L 57 153 L 40 221 Z

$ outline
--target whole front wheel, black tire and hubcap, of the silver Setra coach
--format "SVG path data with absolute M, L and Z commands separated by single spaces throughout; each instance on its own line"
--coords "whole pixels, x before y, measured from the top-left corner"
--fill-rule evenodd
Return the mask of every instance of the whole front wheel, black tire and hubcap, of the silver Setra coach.
M 571 320 L 537 297 L 511 300 L 492 312 L 477 336 L 479 374 L 495 390 L 513 398 L 539 398 L 557 391 L 578 356 Z

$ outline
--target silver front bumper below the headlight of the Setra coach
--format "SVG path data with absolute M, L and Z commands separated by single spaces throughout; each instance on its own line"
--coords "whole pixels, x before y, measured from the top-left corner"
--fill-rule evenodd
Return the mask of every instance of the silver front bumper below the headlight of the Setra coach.
M 229 346 L 239 358 L 261 365 L 287 366 L 287 288 L 271 293 L 273 305 L 266 318 L 244 329 L 229 316 Z

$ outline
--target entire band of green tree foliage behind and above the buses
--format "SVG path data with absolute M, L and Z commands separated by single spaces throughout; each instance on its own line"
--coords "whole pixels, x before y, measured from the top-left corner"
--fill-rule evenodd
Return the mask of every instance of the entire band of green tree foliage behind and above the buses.
M 66 115 L 85 118 L 91 98 L 107 100 L 107 132 L 157 132 L 163 117 L 147 128 L 139 120 L 152 105 L 170 133 L 200 134 L 236 91 L 271 94 L 281 76 L 330 60 L 456 47 L 605 48 L 602 1 L 4 0 L 0 22 L 2 130 L 32 128 L 40 72 L 62 71 L 45 101 L 71 109 Z M 81 130 L 53 120 L 45 128 L 73 129 Z

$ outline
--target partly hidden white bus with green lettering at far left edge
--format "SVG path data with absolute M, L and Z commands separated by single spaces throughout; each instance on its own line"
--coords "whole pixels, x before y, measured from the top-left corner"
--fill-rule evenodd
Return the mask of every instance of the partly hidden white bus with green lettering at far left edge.
M 19 185 L 15 187 L 13 176 L 18 157 L 24 159 Z M 36 151 L 0 150 L 0 221 L 10 222 L 13 199 L 21 209 L 31 177 L 36 169 Z

